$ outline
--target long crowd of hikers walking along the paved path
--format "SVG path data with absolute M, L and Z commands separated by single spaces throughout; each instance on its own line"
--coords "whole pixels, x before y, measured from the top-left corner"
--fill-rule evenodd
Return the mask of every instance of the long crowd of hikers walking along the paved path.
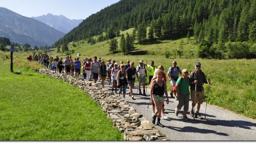
M 112 92 L 121 95 L 123 93 L 123 99 L 125 99 L 126 89 L 129 85 L 129 96 L 134 100 L 133 87 L 135 85 L 135 78 L 138 81 L 138 91 L 139 95 L 146 96 L 146 78 L 148 77 L 150 83 L 150 104 L 152 104 L 152 123 L 155 124 L 157 118 L 157 124 L 160 127 L 163 125 L 160 123 L 160 119 L 168 119 L 165 116 L 164 99 L 166 98 L 167 104 L 169 104 L 169 98 L 167 93 L 167 77 L 168 83 L 172 86 L 172 91 L 170 93 L 171 97 L 178 100 L 178 105 L 175 108 L 175 115 L 178 116 L 178 111 L 182 107 L 184 110 L 183 119 L 189 120 L 187 117 L 187 112 L 189 110 L 189 100 L 192 99 L 192 106 L 190 108 L 190 115 L 194 118 L 202 119 L 199 114 L 200 105 L 204 102 L 204 89 L 203 85 L 210 84 L 210 80 L 206 79 L 205 74 L 201 70 L 201 63 L 195 63 L 195 70 L 193 70 L 190 75 L 187 69 L 181 70 L 177 65 L 176 61 L 173 61 L 172 66 L 169 68 L 166 74 L 164 73 L 164 67 L 159 65 L 154 66 L 154 61 L 150 61 L 150 64 L 144 63 L 143 60 L 139 61 L 139 65 L 135 68 L 135 63 L 132 61 L 127 61 L 127 64 L 116 63 L 114 59 L 108 59 L 107 63 L 101 58 L 97 60 L 97 57 L 83 59 L 81 62 L 79 57 L 72 60 L 71 56 L 62 58 L 56 56 L 49 57 L 48 55 L 33 56 L 39 59 L 40 63 L 44 64 L 51 70 L 59 69 L 59 73 L 70 74 L 79 78 L 80 74 L 83 75 L 85 80 L 101 80 L 101 85 L 104 87 L 104 81 L 108 80 L 108 85 L 112 82 Z M 47 60 L 47 61 L 44 61 Z M 146 70 L 148 68 L 148 70 Z M 71 71 L 71 72 L 70 72 Z M 181 75 L 179 77 L 179 74 Z M 106 79 L 107 78 L 107 79 Z M 110 80 L 111 79 L 111 80 Z M 141 91 L 141 85 L 143 89 L 143 94 Z M 189 90 L 190 87 L 190 90 Z M 117 92 L 117 88 L 119 91 Z M 196 108 L 196 110 L 194 110 Z

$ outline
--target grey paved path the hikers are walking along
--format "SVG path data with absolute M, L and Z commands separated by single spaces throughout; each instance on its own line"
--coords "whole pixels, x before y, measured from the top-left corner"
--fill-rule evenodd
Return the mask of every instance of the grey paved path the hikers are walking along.
M 83 79 L 82 76 L 80 78 Z M 109 86 L 107 81 L 104 84 L 110 90 L 111 85 L 112 83 Z M 129 89 L 127 89 L 128 92 Z M 125 100 L 137 109 L 138 113 L 151 121 L 152 105 L 148 107 L 150 101 L 149 88 L 146 91 L 147 96 L 138 95 L 137 86 L 134 87 L 133 93 L 135 93 L 135 100 L 131 99 L 128 95 L 125 96 Z M 166 101 L 164 102 L 165 115 L 169 119 L 161 119 L 161 123 L 165 127 L 156 127 L 171 140 L 256 140 L 256 120 L 254 119 L 249 119 L 224 108 L 207 104 L 205 119 L 200 120 L 196 118 L 193 120 L 193 117 L 188 112 L 187 116 L 190 120 L 186 121 L 182 119 L 183 107 L 178 117 L 176 117 L 174 109 L 178 105 L 178 101 L 170 97 L 169 100 L 169 104 L 166 104 Z M 191 104 L 192 101 L 190 100 L 190 107 Z M 205 106 L 206 104 L 203 103 L 200 108 L 202 117 L 205 116 Z

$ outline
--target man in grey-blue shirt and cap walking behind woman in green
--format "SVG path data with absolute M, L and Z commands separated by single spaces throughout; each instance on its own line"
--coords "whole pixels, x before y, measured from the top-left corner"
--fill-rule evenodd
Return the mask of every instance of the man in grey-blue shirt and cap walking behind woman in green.
M 176 65 L 177 65 L 177 62 L 173 61 L 173 66 L 171 66 L 169 68 L 168 73 L 167 73 L 168 79 L 171 82 L 171 86 L 173 86 L 173 87 L 176 85 L 176 81 L 179 78 L 179 73 L 180 73 L 180 75 L 182 75 L 180 68 Z M 172 89 L 170 95 L 171 95 L 171 97 L 173 97 L 173 89 Z M 178 97 L 176 95 L 174 95 L 174 96 L 175 96 L 175 100 L 178 100 Z

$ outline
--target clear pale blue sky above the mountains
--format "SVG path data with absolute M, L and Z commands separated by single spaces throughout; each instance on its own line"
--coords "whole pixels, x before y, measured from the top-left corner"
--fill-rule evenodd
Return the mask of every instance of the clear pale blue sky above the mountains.
M 0 0 L 0 7 L 25 17 L 64 15 L 68 19 L 86 19 L 119 0 Z

